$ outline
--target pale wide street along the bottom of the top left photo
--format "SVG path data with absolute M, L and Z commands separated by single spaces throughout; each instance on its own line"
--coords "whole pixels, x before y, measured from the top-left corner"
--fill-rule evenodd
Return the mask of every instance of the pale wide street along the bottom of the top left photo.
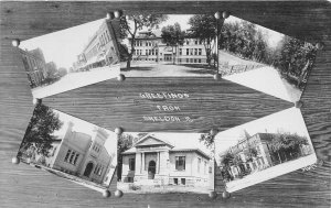
M 31 91 L 33 98 L 44 98 L 63 91 L 115 78 L 119 75 L 119 64 L 111 67 L 106 66 L 94 68 L 89 72 L 68 73 L 58 81 L 47 86 L 33 88 Z

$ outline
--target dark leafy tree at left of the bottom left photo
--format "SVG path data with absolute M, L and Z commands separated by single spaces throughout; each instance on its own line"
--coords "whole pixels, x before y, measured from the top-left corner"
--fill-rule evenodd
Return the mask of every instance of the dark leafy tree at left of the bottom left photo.
M 26 151 L 34 145 L 38 154 L 49 156 L 52 142 L 57 139 L 53 135 L 54 131 L 60 130 L 63 122 L 58 114 L 44 105 L 38 105 L 28 125 L 21 150 Z

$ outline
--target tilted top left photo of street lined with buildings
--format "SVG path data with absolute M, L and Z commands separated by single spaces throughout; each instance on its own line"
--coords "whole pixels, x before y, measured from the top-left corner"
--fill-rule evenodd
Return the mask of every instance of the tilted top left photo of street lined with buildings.
M 86 24 L 22 41 L 22 56 L 33 98 L 44 98 L 119 75 L 113 21 Z

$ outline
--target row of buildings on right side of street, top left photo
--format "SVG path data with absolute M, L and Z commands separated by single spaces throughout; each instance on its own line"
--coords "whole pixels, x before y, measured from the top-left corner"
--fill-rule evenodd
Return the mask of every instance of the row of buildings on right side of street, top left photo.
M 104 20 L 73 64 L 73 70 L 89 70 L 119 62 L 116 33 L 110 21 Z

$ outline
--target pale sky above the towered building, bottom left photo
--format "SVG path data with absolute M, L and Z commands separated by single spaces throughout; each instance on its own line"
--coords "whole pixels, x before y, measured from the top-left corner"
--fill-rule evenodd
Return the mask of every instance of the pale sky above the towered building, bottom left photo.
M 62 128 L 58 131 L 55 131 L 53 133 L 53 135 L 57 135 L 61 139 L 63 139 L 70 121 L 72 121 L 74 123 L 73 131 L 86 133 L 89 135 L 93 134 L 93 130 L 95 128 L 98 128 L 97 125 L 95 125 L 93 123 L 77 119 L 75 117 L 63 113 L 61 111 L 57 111 L 57 110 L 53 110 L 53 111 L 58 114 L 58 119 L 63 122 Z M 104 130 L 106 130 L 106 129 L 104 129 Z M 111 132 L 109 130 L 106 130 L 106 131 L 109 134 L 109 136 L 106 140 L 106 143 L 104 146 L 108 151 L 108 153 L 111 154 L 117 151 L 117 135 L 115 134 L 115 132 Z

